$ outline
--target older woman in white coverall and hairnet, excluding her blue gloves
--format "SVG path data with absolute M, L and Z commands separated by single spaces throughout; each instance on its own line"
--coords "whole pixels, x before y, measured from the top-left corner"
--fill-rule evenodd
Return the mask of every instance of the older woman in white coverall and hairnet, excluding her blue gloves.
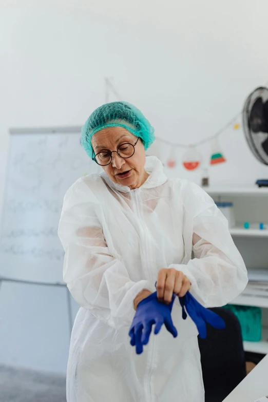
M 128 336 L 137 306 L 156 282 L 161 303 L 190 290 L 204 307 L 226 304 L 247 283 L 213 200 L 193 183 L 168 179 L 156 157 L 145 157 L 154 139 L 140 110 L 126 102 L 99 107 L 82 129 L 82 145 L 103 172 L 71 186 L 59 226 L 64 281 L 81 306 L 68 402 L 202 402 L 198 331 L 192 319 L 182 320 L 178 298 L 178 336 L 162 327 L 142 354 Z

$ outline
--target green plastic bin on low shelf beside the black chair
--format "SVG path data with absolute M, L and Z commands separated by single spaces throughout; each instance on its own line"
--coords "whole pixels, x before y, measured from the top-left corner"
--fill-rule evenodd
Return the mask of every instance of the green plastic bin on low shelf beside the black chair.
M 247 305 L 226 304 L 225 309 L 232 311 L 238 318 L 242 339 L 251 342 L 259 342 L 261 340 L 261 309 Z

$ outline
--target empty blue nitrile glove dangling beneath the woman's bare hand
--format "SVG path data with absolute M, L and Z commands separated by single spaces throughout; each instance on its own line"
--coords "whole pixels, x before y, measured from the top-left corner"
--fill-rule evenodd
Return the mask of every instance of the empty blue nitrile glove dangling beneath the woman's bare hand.
M 217 330 L 225 328 L 224 320 L 216 313 L 203 307 L 189 292 L 185 296 L 179 297 L 182 307 L 182 318 L 185 320 L 187 314 L 192 318 L 197 326 L 199 336 L 202 339 L 206 337 L 206 322 Z

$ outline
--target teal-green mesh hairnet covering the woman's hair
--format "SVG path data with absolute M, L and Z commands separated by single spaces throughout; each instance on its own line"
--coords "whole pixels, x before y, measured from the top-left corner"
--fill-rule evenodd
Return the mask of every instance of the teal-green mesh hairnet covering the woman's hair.
M 137 107 L 128 102 L 106 103 L 94 110 L 81 130 L 81 144 L 87 155 L 94 156 L 91 137 L 105 127 L 124 127 L 140 137 L 145 150 L 155 141 L 155 129 Z

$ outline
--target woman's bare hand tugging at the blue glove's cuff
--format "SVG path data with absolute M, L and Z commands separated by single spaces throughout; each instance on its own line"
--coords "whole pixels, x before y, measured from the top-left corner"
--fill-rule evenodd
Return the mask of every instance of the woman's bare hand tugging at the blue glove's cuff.
M 190 280 L 181 271 L 174 268 L 162 268 L 158 273 L 157 297 L 163 303 L 169 304 L 173 293 L 179 297 L 185 296 L 190 287 Z

